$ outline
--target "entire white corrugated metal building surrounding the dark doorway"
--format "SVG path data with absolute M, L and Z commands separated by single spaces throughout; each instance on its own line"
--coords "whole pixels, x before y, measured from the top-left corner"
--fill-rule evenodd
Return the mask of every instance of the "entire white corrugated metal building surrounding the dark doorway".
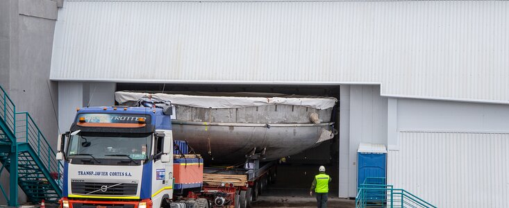
M 115 83 L 340 85 L 340 197 L 356 196 L 356 149 L 371 142 L 387 145 L 395 187 L 439 207 L 509 207 L 508 11 L 508 1 L 64 1 L 51 61 L 60 129 L 92 91 L 90 105 L 110 105 Z

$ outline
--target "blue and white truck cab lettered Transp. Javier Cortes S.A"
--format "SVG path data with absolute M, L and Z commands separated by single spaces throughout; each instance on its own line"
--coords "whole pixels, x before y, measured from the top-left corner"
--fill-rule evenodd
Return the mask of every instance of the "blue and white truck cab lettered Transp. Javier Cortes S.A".
M 172 107 L 84 107 L 58 138 L 63 208 L 160 207 L 173 195 Z

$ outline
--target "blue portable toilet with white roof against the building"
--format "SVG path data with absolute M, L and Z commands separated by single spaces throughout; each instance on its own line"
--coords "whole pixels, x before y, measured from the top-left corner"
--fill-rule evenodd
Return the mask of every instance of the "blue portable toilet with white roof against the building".
M 379 180 L 369 184 L 385 184 L 387 167 L 387 149 L 383 144 L 361 143 L 357 150 L 357 188 L 365 182 L 366 177 L 377 177 Z

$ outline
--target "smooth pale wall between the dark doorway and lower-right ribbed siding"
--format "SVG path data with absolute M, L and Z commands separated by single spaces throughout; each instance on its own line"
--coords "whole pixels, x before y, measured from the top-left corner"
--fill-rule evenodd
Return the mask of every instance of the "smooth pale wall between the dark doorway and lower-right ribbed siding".
M 356 197 L 357 148 L 360 142 L 387 144 L 387 98 L 379 86 L 340 87 L 340 191 Z

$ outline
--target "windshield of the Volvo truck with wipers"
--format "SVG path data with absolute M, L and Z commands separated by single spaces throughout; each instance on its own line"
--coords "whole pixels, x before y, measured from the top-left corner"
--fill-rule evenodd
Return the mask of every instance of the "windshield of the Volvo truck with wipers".
M 149 158 L 151 134 L 108 135 L 81 133 L 69 138 L 67 158 L 73 164 L 124 164 L 137 165 Z

